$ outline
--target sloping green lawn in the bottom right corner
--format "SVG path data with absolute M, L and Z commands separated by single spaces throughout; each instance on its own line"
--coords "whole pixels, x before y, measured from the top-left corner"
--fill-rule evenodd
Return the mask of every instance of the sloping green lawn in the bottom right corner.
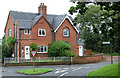
M 92 78 L 93 76 L 118 76 L 118 66 L 120 66 L 120 63 L 114 63 L 103 66 L 97 70 L 89 72 L 88 78 Z M 120 77 L 120 72 L 119 72 L 119 77 Z

